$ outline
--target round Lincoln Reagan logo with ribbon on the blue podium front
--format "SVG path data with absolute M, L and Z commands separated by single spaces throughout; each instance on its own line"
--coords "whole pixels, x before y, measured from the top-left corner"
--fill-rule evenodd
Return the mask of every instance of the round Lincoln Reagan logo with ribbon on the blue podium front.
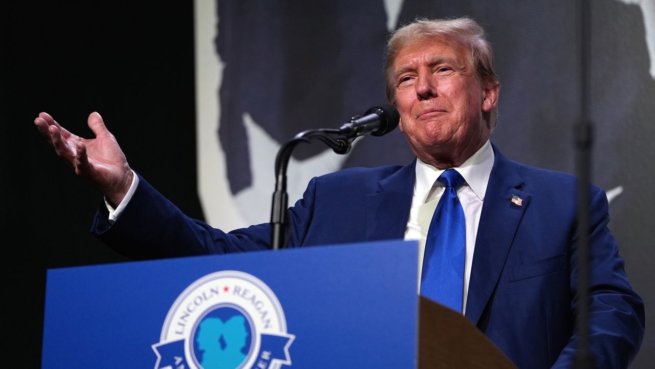
M 241 271 L 219 271 L 187 287 L 166 315 L 155 369 L 280 368 L 291 365 L 280 301 Z

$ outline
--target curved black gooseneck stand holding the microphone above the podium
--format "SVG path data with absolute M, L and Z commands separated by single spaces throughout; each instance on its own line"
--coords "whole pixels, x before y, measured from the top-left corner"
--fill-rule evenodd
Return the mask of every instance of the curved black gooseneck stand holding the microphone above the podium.
M 311 140 L 322 141 L 331 147 L 337 154 L 345 154 L 352 148 L 352 141 L 357 136 L 345 134 L 339 129 L 305 130 L 296 134 L 280 149 L 275 158 L 275 191 L 271 206 L 271 247 L 273 250 L 286 248 L 289 238 L 287 235 L 288 195 L 286 192 L 286 170 L 291 159 L 291 152 L 301 142 L 309 143 Z

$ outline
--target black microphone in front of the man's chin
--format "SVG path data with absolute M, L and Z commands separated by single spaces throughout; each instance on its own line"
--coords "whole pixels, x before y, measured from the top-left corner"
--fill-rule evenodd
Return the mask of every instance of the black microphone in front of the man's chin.
M 371 134 L 382 136 L 394 130 L 400 121 L 398 109 L 390 104 L 373 106 L 364 115 L 356 115 L 339 128 L 339 133 L 356 138 Z

